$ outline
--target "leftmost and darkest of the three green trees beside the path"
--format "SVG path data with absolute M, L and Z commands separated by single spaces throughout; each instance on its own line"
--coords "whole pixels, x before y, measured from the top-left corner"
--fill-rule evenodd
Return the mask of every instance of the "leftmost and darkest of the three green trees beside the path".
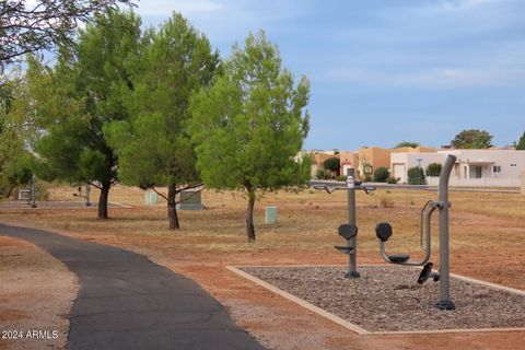
M 55 67 L 30 60 L 30 92 L 43 130 L 35 144 L 37 174 L 100 188 L 100 219 L 107 219 L 109 189 L 118 182 L 118 159 L 103 128 L 128 117 L 122 92 L 132 89 L 140 36 L 132 12 L 112 10 L 80 31 L 73 51 L 61 49 Z

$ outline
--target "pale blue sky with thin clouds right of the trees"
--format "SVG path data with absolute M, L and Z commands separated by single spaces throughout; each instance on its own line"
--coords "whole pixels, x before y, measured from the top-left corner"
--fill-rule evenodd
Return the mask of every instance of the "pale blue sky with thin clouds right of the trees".
M 142 0 L 144 25 L 180 12 L 226 58 L 259 30 L 312 84 L 305 149 L 450 144 L 525 131 L 524 0 Z

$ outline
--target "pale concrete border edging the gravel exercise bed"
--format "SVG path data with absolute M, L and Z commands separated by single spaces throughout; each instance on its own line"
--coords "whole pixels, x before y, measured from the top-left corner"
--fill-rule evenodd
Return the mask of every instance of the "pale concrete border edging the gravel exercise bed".
M 362 266 L 386 266 L 386 265 L 362 265 Z M 339 316 L 336 316 L 320 307 L 317 307 L 311 303 L 308 303 L 305 300 L 302 300 L 291 293 L 288 293 L 268 282 L 265 282 L 264 280 L 254 277 L 247 272 L 244 272 L 241 270 L 241 268 L 246 267 L 246 268 L 290 268 L 290 267 L 346 267 L 346 265 L 273 265 L 273 266 L 268 266 L 268 265 L 254 265 L 254 266 L 226 266 L 225 268 L 276 294 L 279 294 L 283 296 L 284 299 L 319 315 L 323 316 L 347 329 L 350 329 L 354 332 L 357 332 L 360 336 L 387 336 L 387 335 L 425 335 L 425 334 L 460 334 L 460 332 L 509 332 L 509 331 L 525 331 L 525 327 L 518 328 L 451 328 L 451 329 L 436 329 L 436 330 L 389 330 L 389 331 L 371 331 L 365 328 L 362 328 L 355 324 L 352 324 Z M 490 283 L 490 282 L 485 282 L 481 280 L 477 280 L 474 278 L 465 277 L 462 275 L 456 275 L 456 273 L 451 273 L 452 277 L 464 280 L 466 282 L 470 283 L 477 283 L 481 284 L 483 287 L 488 287 L 491 289 L 497 289 L 505 292 L 511 292 L 515 293 L 518 295 L 524 295 L 525 296 L 525 291 L 522 291 L 520 289 L 514 289 L 501 284 L 495 284 L 495 283 Z

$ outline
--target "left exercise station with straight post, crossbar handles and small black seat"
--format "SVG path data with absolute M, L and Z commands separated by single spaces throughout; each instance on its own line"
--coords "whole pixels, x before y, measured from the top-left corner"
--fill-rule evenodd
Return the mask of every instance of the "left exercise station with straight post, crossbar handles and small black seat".
M 330 184 L 331 185 L 331 184 Z M 346 190 L 348 194 L 348 223 L 339 226 L 339 235 L 347 241 L 346 246 L 336 245 L 334 248 L 338 249 L 343 254 L 348 254 L 348 272 L 345 273 L 346 278 L 359 278 L 358 272 L 358 225 L 355 218 L 355 190 L 364 190 L 365 194 L 369 194 L 375 189 L 373 186 L 368 186 L 362 182 L 354 179 L 353 168 L 347 170 L 347 182 L 346 186 L 328 186 L 328 185 L 316 185 L 315 189 L 324 189 L 328 194 L 334 192 L 335 190 Z

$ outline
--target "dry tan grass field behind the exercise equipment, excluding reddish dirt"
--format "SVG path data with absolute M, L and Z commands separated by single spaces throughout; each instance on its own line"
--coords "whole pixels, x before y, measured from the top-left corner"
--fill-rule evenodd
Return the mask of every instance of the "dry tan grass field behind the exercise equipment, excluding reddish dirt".
M 79 200 L 74 189 L 56 188 L 51 199 Z M 357 194 L 359 253 L 370 261 L 380 261 L 374 228 L 388 221 L 394 236 L 388 242 L 392 252 L 419 253 L 419 212 L 435 192 L 415 190 L 377 190 L 372 195 Z M 92 198 L 97 194 L 93 191 Z M 182 229 L 166 230 L 165 203 L 143 206 L 143 191 L 117 187 L 110 201 L 133 205 L 132 209 L 110 209 L 110 220 L 96 220 L 96 209 L 4 211 L 2 218 L 39 228 L 54 228 L 84 234 L 91 240 L 142 250 L 182 250 L 188 254 L 214 253 L 281 253 L 282 255 L 335 254 L 331 246 L 340 244 L 336 229 L 347 221 L 346 194 L 328 195 L 312 189 L 299 194 L 279 191 L 266 194 L 256 203 L 257 242 L 246 243 L 244 209 L 241 192 L 205 190 L 203 211 L 179 212 Z M 469 269 L 495 261 L 495 269 L 517 268 L 525 262 L 525 196 L 510 194 L 452 192 L 451 245 L 453 259 Z M 264 224 L 264 208 L 278 206 L 279 223 Z M 435 231 L 434 226 L 434 232 Z M 438 235 L 433 235 L 436 246 Z M 436 252 L 434 252 L 436 254 Z M 435 259 L 436 260 L 436 259 Z M 500 273 L 501 275 L 501 273 Z M 504 273 L 503 273 L 504 275 Z M 492 278 L 498 280 L 498 278 Z M 516 285 L 521 282 L 511 282 Z M 523 285 L 522 285 L 523 287 Z

